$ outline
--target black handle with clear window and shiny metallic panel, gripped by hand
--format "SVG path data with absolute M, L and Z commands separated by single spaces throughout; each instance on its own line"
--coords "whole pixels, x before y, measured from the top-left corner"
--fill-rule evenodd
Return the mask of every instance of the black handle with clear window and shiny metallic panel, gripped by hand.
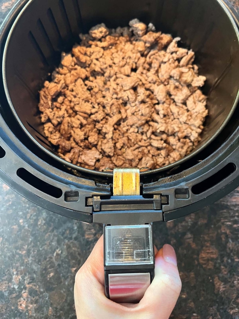
M 105 294 L 116 302 L 139 302 L 154 278 L 151 225 L 104 226 Z

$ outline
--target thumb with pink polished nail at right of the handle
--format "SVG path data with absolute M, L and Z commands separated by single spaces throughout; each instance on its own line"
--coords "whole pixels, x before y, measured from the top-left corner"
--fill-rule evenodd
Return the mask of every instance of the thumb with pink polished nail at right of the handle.
M 164 245 L 155 256 L 155 277 L 140 304 L 147 303 L 149 317 L 169 318 L 181 291 L 177 258 L 171 245 Z

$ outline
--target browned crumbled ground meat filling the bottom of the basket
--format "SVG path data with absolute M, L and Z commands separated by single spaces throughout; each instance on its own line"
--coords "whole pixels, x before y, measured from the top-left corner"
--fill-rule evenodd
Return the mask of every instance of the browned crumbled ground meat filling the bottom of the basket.
M 200 141 L 207 115 L 194 52 L 180 38 L 134 19 L 80 34 L 40 91 L 48 140 L 67 161 L 90 169 L 173 163 Z

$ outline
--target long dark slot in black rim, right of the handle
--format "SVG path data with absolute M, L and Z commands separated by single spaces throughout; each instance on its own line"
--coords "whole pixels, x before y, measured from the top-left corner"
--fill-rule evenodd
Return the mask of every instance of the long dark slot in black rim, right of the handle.
M 207 189 L 210 189 L 222 182 L 225 178 L 235 172 L 236 166 L 233 163 L 229 163 L 224 166 L 220 171 L 216 172 L 212 176 L 208 177 L 206 180 L 192 186 L 192 193 L 195 195 L 199 195 L 205 192 Z

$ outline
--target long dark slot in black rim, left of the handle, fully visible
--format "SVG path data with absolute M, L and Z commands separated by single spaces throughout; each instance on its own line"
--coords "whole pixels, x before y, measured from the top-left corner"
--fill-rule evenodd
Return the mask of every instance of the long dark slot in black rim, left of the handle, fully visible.
M 19 168 L 17 171 L 17 175 L 23 181 L 35 187 L 36 189 L 39 189 L 41 192 L 47 195 L 55 198 L 60 198 L 62 196 L 62 190 L 60 188 L 57 188 L 53 185 L 48 184 L 47 182 L 40 180 L 40 178 L 28 172 L 25 168 Z

